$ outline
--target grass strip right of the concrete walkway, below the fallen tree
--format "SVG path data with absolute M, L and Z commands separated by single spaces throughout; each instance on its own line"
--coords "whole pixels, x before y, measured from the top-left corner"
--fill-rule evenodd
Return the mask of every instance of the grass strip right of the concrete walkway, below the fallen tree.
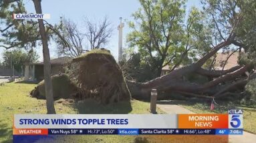
M 211 102 L 202 101 L 186 101 L 178 102 L 178 105 L 195 113 L 222 113 L 226 114 L 229 109 L 243 109 L 243 129 L 247 132 L 256 134 L 256 106 L 235 105 L 227 102 L 218 102 L 219 106 L 215 106 L 214 110 L 210 110 Z

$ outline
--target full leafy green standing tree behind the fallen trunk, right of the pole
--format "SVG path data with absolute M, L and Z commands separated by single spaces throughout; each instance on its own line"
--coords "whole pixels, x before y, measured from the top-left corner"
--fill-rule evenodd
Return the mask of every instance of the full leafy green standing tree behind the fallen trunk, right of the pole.
M 185 1 L 140 0 L 140 5 L 129 23 L 133 31 L 127 41 L 130 47 L 138 47 L 155 77 L 163 66 L 173 70 L 211 49 L 209 28 L 203 26 L 204 15 L 195 7 L 185 20 Z

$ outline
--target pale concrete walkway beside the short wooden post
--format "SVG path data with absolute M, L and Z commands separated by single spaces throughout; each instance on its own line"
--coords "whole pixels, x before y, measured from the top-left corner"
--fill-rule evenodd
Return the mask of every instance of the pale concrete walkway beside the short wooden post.
M 190 110 L 174 104 L 172 101 L 158 101 L 157 107 L 167 114 L 195 114 Z M 243 135 L 229 136 L 230 143 L 252 143 L 256 142 L 256 134 L 243 131 Z

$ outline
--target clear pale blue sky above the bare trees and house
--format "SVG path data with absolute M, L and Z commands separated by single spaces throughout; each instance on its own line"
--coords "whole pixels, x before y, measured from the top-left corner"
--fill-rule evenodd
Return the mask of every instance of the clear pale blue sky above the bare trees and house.
M 28 13 L 35 13 L 35 8 L 31 0 L 23 0 Z M 117 26 L 120 23 L 119 17 L 123 17 L 128 21 L 132 20 L 132 13 L 140 7 L 138 0 L 42 0 L 41 2 L 43 13 L 49 13 L 51 19 L 47 21 L 51 24 L 57 23 L 60 16 L 64 16 L 67 19 L 71 19 L 78 23 L 79 26 L 83 26 L 83 17 L 89 19 L 100 20 L 104 16 L 107 16 L 114 27 L 113 35 L 110 42 L 105 48 L 110 49 L 115 58 L 118 57 L 118 30 Z M 186 11 L 188 12 L 190 7 L 200 7 L 199 0 L 188 0 Z M 124 43 L 126 46 L 126 35 L 130 31 L 128 25 L 124 26 Z M 51 58 L 57 57 L 55 54 L 55 44 L 49 45 Z M 40 55 L 40 61 L 42 61 L 42 49 L 37 47 L 37 52 Z

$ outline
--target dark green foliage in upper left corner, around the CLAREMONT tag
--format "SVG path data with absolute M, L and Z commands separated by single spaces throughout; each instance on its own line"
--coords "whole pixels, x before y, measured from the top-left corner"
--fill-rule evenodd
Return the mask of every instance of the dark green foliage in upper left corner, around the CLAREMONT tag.
M 37 22 L 27 19 L 13 20 L 13 13 L 27 13 L 22 0 L 0 1 L 0 47 L 35 47 L 40 39 Z

